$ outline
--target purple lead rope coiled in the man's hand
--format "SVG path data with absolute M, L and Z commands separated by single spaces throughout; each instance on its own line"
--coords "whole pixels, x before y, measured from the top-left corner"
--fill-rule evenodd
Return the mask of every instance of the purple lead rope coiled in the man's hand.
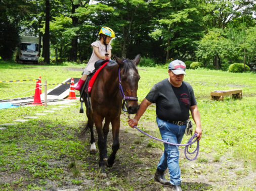
M 193 141 L 194 138 L 196 138 L 197 133 L 195 133 L 195 134 L 188 140 L 188 143 L 187 143 L 187 144 L 175 144 L 175 143 L 169 143 L 169 142 L 167 142 L 167 141 L 163 141 L 163 140 L 161 140 L 161 139 L 158 139 L 158 138 L 156 138 L 156 137 L 153 137 L 153 136 L 151 136 L 151 135 L 148 135 L 147 133 L 145 133 L 145 132 L 143 132 L 142 130 L 140 130 L 139 128 L 137 128 L 137 126 L 134 126 L 134 128 L 137 129 L 139 132 L 145 134 L 146 136 L 148 136 L 148 137 L 150 137 L 150 138 L 152 138 L 152 139 L 155 139 L 155 140 L 157 140 L 157 141 L 161 141 L 161 142 L 163 142 L 163 143 L 166 143 L 166 144 L 169 144 L 169 145 L 174 145 L 174 146 L 185 146 L 184 154 L 185 154 L 185 157 L 186 157 L 188 160 L 190 160 L 190 161 L 195 160 L 195 159 L 197 158 L 197 156 L 198 156 L 198 152 L 199 152 L 199 141 L 198 141 L 197 139 L 196 139 L 195 141 Z M 196 141 L 197 141 L 196 149 L 195 149 L 193 152 L 189 152 L 188 147 L 189 147 L 190 145 L 192 145 L 193 143 L 195 143 Z M 195 156 L 193 159 L 190 159 L 190 158 L 187 157 L 187 153 L 188 153 L 188 154 L 194 154 L 195 152 L 196 152 L 196 156 Z

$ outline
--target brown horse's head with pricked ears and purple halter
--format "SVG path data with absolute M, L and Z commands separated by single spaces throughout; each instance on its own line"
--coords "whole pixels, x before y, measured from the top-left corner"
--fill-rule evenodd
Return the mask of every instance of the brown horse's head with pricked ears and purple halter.
M 137 70 L 138 63 L 140 62 L 140 54 L 134 60 L 116 57 L 116 62 L 120 68 L 120 88 L 123 90 L 124 104 L 126 105 L 127 112 L 130 114 L 136 113 L 139 109 L 137 90 L 140 75 Z

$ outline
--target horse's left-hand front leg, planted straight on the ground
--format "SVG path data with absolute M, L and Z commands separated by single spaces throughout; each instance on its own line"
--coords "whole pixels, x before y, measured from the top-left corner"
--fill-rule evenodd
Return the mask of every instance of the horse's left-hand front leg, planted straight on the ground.
M 105 161 L 103 160 L 104 158 L 104 150 L 105 148 L 105 143 L 104 143 L 104 137 L 103 137 L 103 130 L 102 130 L 102 121 L 103 117 L 99 115 L 94 115 L 94 123 L 96 126 L 96 130 L 98 133 L 98 148 L 100 152 L 100 161 L 99 161 L 99 167 L 101 170 L 101 176 L 107 177 L 106 171 L 105 171 Z

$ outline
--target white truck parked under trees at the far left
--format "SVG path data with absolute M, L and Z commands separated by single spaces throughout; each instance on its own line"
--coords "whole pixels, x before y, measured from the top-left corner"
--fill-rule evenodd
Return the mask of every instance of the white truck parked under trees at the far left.
M 20 43 L 16 47 L 15 61 L 38 63 L 39 58 L 39 37 L 21 36 Z

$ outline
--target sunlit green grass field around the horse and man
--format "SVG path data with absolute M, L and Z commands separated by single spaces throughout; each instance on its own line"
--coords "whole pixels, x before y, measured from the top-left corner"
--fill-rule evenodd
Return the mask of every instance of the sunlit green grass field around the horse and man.
M 83 67 L 84 65 L 70 62 L 60 66 L 36 66 L 0 60 L 0 81 L 35 79 L 41 76 L 42 83 L 44 80 L 47 80 L 48 84 L 61 83 L 67 78 L 81 76 L 81 71 L 70 68 Z M 218 190 L 253 190 L 253 183 L 239 186 L 235 184 L 241 178 L 254 173 L 256 167 L 256 76 L 251 73 L 234 74 L 202 69 L 187 70 L 186 73 L 185 81 L 194 88 L 198 102 L 203 137 L 200 140 L 198 160 L 190 163 L 183 159 L 181 148 L 183 178 L 196 181 L 198 176 L 203 175 L 213 187 L 218 187 L 220 182 L 224 184 L 223 187 L 218 187 Z M 139 68 L 139 74 L 139 102 L 155 83 L 168 77 L 166 69 L 157 68 Z M 34 88 L 34 81 L 0 83 L 0 99 L 30 96 L 34 94 Z M 226 89 L 242 89 L 243 99 L 209 99 L 211 91 Z M 158 156 L 155 152 L 163 150 L 162 144 L 129 128 L 126 114 L 121 118 L 123 137 L 120 138 L 121 146 L 117 152 L 116 163 L 107 171 L 109 177 L 100 179 L 97 175 L 99 153 L 89 154 L 89 135 L 86 141 L 79 138 L 87 118 L 85 114 L 79 114 L 80 105 L 78 101 L 76 103 L 77 105 L 62 108 L 54 114 L 40 116 L 16 126 L 8 126 L 7 130 L 0 130 L 1 190 L 55 189 L 49 182 L 55 182 L 59 187 L 83 186 L 86 190 L 165 189 L 152 178 L 161 154 L 160 152 Z M 53 107 L 56 106 L 49 105 L 47 109 Z M 43 110 L 44 106 L 1 109 L 0 124 L 33 116 L 34 113 Z M 153 104 L 139 121 L 138 127 L 160 138 L 155 124 Z M 108 139 L 112 143 L 112 138 Z M 183 143 L 188 139 L 189 137 L 185 136 Z M 111 149 L 111 146 L 108 149 Z M 219 165 L 218 169 L 214 167 L 215 164 Z M 229 177 L 225 172 L 232 172 L 235 178 Z M 13 176 L 14 174 L 16 176 Z M 165 175 L 168 177 L 167 173 Z M 9 181 L 2 182 L 1 179 L 4 177 L 9 177 Z M 143 179 L 140 180 L 138 177 Z M 214 189 L 200 182 L 192 184 L 188 181 L 183 185 L 185 190 L 199 188 Z

